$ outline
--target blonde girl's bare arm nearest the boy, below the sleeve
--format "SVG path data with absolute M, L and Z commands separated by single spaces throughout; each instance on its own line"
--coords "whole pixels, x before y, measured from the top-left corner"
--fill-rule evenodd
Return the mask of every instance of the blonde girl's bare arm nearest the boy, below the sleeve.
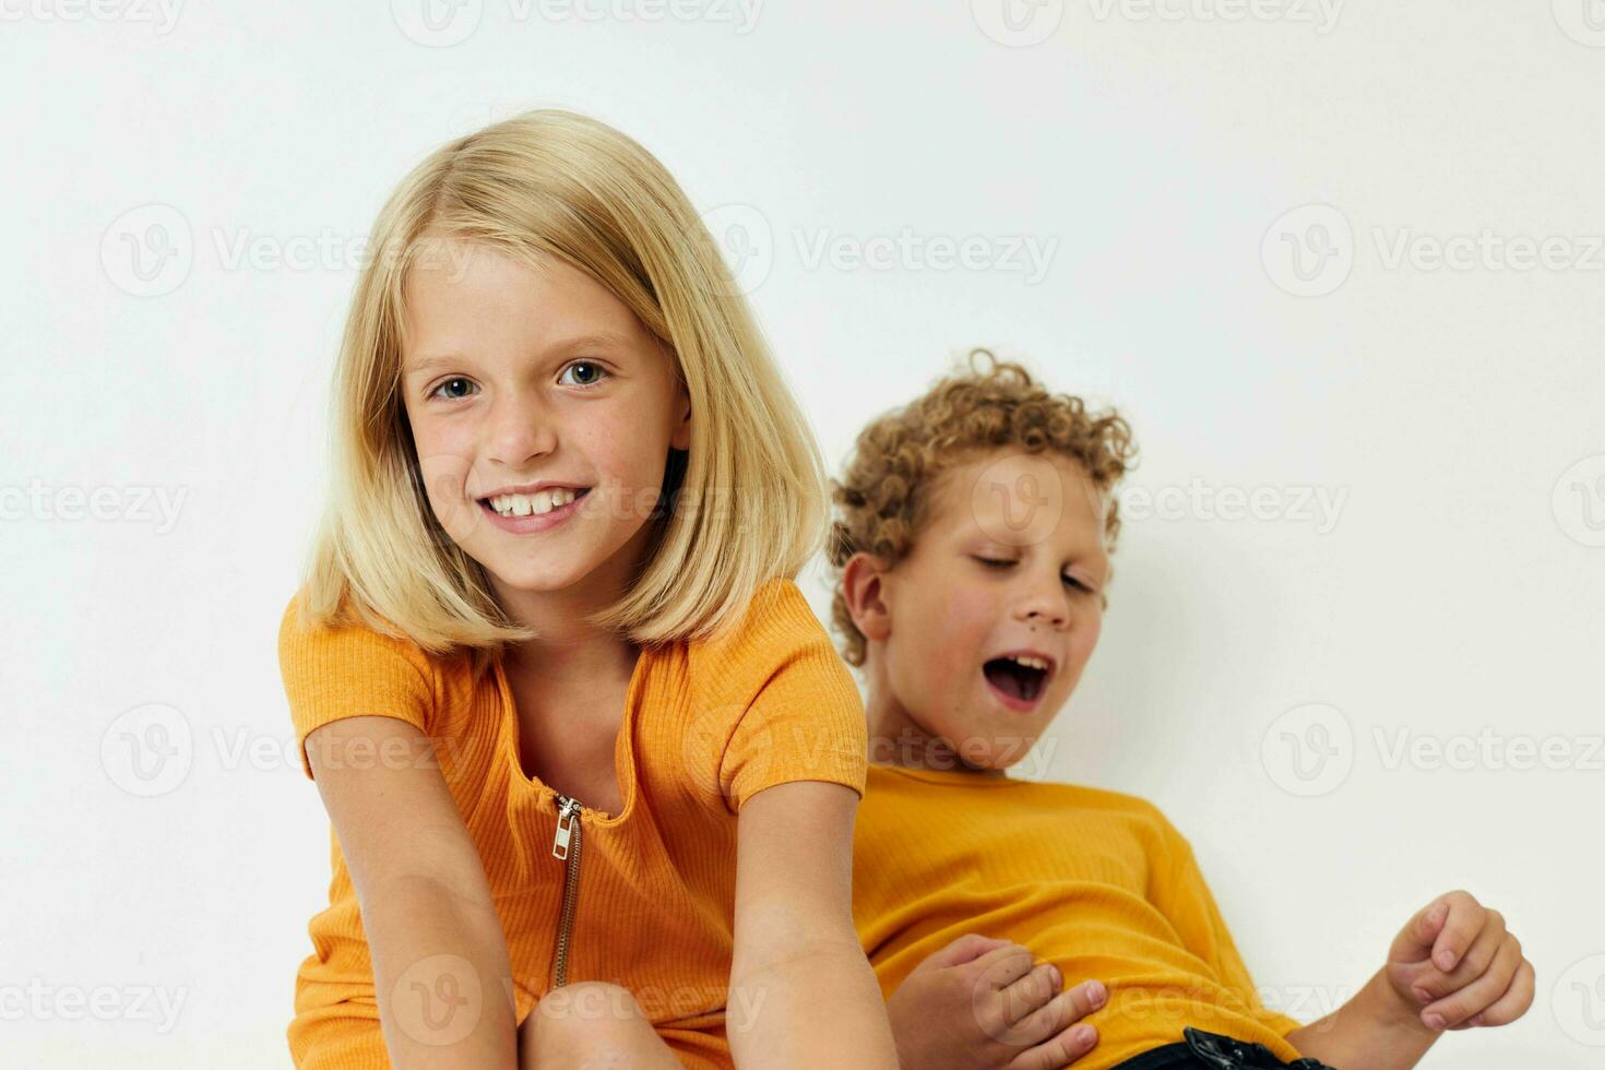
M 740 810 L 725 1035 L 737 1067 L 897 1070 L 886 1006 L 852 927 L 844 784 L 791 781 Z

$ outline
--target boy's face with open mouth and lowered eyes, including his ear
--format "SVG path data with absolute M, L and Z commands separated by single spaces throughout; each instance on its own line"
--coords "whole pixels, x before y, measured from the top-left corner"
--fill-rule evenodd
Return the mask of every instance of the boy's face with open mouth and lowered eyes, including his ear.
M 843 576 L 868 638 L 872 741 L 894 748 L 872 759 L 908 764 L 900 738 L 974 768 L 1024 757 L 1098 643 L 1107 578 L 1103 499 L 1079 462 L 997 451 L 949 470 L 913 550 L 891 571 L 855 555 Z

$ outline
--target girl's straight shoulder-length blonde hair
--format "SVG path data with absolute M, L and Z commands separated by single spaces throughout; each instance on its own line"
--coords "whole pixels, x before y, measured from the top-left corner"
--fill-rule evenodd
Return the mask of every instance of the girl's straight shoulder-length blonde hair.
M 640 645 L 701 638 L 767 581 L 796 576 L 828 529 L 825 465 L 717 245 L 640 144 L 542 109 L 432 152 L 374 223 L 334 375 L 331 492 L 305 619 L 472 651 L 475 669 L 538 635 L 502 611 L 430 510 L 401 403 L 406 273 L 449 241 L 587 273 L 663 343 L 690 396 L 690 449 L 669 451 L 653 537 L 594 624 Z

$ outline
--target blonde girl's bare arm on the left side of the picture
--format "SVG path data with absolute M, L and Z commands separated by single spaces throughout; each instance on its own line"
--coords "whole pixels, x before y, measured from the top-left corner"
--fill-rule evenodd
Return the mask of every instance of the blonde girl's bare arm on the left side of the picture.
M 512 1070 L 507 942 L 429 736 L 347 717 L 308 733 L 307 757 L 356 889 L 392 1065 Z

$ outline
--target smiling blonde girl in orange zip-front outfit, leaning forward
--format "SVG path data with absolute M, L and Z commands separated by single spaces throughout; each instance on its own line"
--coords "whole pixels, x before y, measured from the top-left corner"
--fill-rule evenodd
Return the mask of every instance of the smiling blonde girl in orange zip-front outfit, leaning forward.
M 279 661 L 332 825 L 299 1067 L 896 1067 L 817 446 L 684 193 L 536 111 L 390 197 Z M 387 1062 L 388 1052 L 388 1062 Z

